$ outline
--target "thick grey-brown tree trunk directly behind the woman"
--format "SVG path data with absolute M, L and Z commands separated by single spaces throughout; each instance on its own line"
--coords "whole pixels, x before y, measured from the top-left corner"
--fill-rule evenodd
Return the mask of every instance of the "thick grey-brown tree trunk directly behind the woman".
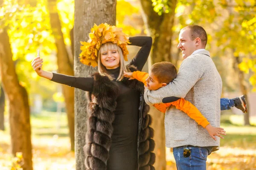
M 116 0 L 75 0 L 75 24 L 74 24 L 74 46 L 75 46 L 75 75 L 88 77 L 97 68 L 83 65 L 79 61 L 80 41 L 87 41 L 90 28 L 93 24 L 108 23 L 116 24 Z M 76 170 L 84 170 L 85 133 L 87 131 L 87 100 L 85 92 L 75 89 L 75 146 L 76 146 Z

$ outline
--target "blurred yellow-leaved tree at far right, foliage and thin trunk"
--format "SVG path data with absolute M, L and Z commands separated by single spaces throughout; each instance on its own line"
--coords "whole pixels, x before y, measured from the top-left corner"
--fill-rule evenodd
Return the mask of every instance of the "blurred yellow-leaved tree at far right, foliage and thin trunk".
M 224 26 L 216 32 L 218 46 L 227 54 L 230 51 L 233 58 L 233 67 L 238 75 L 240 91 L 244 96 L 248 96 L 250 86 L 256 85 L 256 1 L 255 0 L 236 0 L 226 1 L 221 4 L 223 10 L 227 12 Z M 237 43 L 239 42 L 239 44 Z M 251 73 L 248 77 L 246 73 Z M 244 113 L 244 125 L 250 125 L 250 105 L 247 103 L 247 113 Z

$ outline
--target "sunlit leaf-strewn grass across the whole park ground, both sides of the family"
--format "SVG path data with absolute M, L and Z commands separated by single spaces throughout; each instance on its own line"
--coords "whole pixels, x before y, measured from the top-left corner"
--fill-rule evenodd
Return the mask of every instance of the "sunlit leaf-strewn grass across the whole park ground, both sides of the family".
M 207 170 L 256 170 L 256 126 L 242 126 L 243 115 L 222 115 L 221 127 L 227 136 L 221 148 L 207 159 Z M 256 125 L 256 118 L 250 119 Z M 0 131 L 0 170 L 10 170 L 10 136 L 8 118 L 6 131 Z M 43 111 L 32 114 L 32 145 L 34 170 L 75 170 L 75 154 L 70 151 L 67 116 Z M 170 149 L 166 149 L 166 170 L 176 170 Z

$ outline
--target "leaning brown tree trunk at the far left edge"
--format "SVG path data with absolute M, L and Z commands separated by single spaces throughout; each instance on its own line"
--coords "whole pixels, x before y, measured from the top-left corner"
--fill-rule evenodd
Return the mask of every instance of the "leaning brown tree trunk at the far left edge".
M 23 170 L 32 170 L 29 103 L 26 89 L 19 84 L 12 60 L 7 30 L 0 34 L 0 69 L 4 91 L 9 99 L 11 149 L 23 153 Z

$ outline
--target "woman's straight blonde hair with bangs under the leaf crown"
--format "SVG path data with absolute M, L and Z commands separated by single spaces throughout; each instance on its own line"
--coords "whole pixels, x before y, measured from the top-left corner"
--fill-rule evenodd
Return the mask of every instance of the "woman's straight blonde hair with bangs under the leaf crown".
M 125 67 L 125 59 L 124 59 L 121 48 L 118 45 L 114 44 L 113 42 L 106 42 L 106 43 L 102 44 L 102 46 L 99 48 L 99 51 L 98 51 L 98 71 L 99 71 L 99 74 L 102 75 L 102 76 L 107 76 L 111 80 L 114 79 L 113 75 L 108 73 L 106 67 L 101 62 L 101 54 L 105 51 L 108 51 L 108 50 L 117 50 L 118 53 L 119 53 L 120 72 L 119 72 L 119 76 L 117 77 L 116 81 L 122 81 L 122 79 L 124 78 L 124 71 L 128 72 L 130 70 Z

